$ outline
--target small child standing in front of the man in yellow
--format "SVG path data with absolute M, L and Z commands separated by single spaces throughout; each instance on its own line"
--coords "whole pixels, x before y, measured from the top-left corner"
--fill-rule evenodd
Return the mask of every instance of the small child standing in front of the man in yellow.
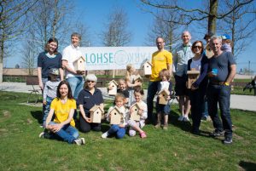
M 169 81 L 170 79 L 170 71 L 167 69 L 163 69 L 159 73 L 159 77 L 161 78 L 161 82 L 158 84 L 158 92 L 163 90 L 164 88 L 168 89 L 170 95 L 172 94 L 172 83 Z M 167 100 L 170 100 L 170 95 L 167 96 Z M 156 102 L 156 111 L 157 111 L 157 124 L 154 126 L 155 128 L 160 128 L 161 126 L 161 118 L 164 116 L 164 126 L 163 129 L 168 129 L 168 115 L 170 113 L 170 105 L 161 105 L 159 104 L 159 97 Z

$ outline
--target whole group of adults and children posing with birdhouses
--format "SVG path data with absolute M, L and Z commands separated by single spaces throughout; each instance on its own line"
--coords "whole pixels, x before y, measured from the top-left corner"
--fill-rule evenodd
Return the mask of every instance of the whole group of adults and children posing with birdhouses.
M 166 100 L 171 100 L 172 82 L 175 78 L 175 94 L 179 104 L 181 116 L 178 121 L 189 122 L 189 111 L 192 118 L 192 133 L 200 134 L 201 117 L 209 113 L 215 130 L 212 136 L 224 135 L 224 144 L 232 143 L 232 123 L 230 117 L 230 83 L 236 75 L 236 62 L 230 53 L 229 35 L 223 37 L 208 33 L 204 38 L 207 46 L 198 40 L 190 43 L 189 31 L 183 31 L 183 43 L 172 53 L 165 49 L 163 37 L 156 38 L 158 50 L 152 54 L 152 74 L 148 82 L 147 103 L 143 102 L 142 83 L 135 83 L 136 69 L 126 66 L 125 79 L 119 79 L 118 94 L 115 95 L 113 106 L 108 109 L 107 120 L 111 118 L 113 108 L 123 114 L 122 122 L 112 124 L 102 138 L 116 136 L 121 139 L 129 127 L 129 135 L 138 132 L 141 138 L 146 138 L 143 131 L 145 123 L 154 123 L 155 128 L 168 128 L 170 105 L 159 104 L 156 101 L 156 115 L 153 114 L 154 96 L 163 89 L 169 91 Z M 70 144 L 84 145 L 84 138 L 79 138 L 75 127 L 77 108 L 79 108 L 79 129 L 81 132 L 90 130 L 101 131 L 101 123 L 90 121 L 90 109 L 100 105 L 103 109 L 102 92 L 96 88 L 97 78 L 88 74 L 83 79 L 85 71 L 75 71 L 73 62 L 83 56 L 79 50 L 81 36 L 73 33 L 71 45 L 64 48 L 62 55 L 57 51 L 58 41 L 50 38 L 44 53 L 38 55 L 38 82 L 44 94 L 45 131 L 40 137 L 57 138 Z M 200 71 L 200 76 L 187 88 L 187 71 Z M 66 72 L 64 74 L 64 71 Z M 66 79 L 64 79 L 66 76 Z M 131 120 L 131 106 L 138 104 L 140 110 L 139 121 Z M 222 121 L 218 117 L 218 105 Z M 207 112 L 208 111 L 208 112 Z M 104 111 L 103 111 L 104 112 Z

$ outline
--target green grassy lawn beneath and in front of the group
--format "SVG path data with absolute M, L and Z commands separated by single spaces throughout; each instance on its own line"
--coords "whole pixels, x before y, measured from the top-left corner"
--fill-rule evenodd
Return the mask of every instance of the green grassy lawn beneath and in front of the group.
M 256 112 L 231 110 L 232 145 L 208 136 L 212 123 L 204 122 L 197 136 L 190 123 L 178 123 L 172 106 L 169 129 L 147 125 L 147 139 L 128 137 L 102 140 L 101 134 L 80 134 L 85 145 L 39 139 L 43 131 L 41 107 L 20 105 L 27 94 L 0 91 L 1 170 L 255 170 Z M 108 101 L 109 102 L 109 101 Z M 108 106 L 107 106 L 108 107 Z M 103 131 L 108 123 L 103 123 Z

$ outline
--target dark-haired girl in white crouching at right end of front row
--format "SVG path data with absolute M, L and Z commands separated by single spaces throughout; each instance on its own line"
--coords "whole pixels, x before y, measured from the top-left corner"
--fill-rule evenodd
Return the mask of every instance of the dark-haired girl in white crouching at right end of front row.
M 129 120 L 128 124 L 130 126 L 129 129 L 129 135 L 130 136 L 135 136 L 136 135 L 136 131 L 139 132 L 141 138 L 146 138 L 147 134 L 143 131 L 143 127 L 145 126 L 145 119 L 147 119 L 148 117 L 148 106 L 147 104 L 143 101 L 143 88 L 141 88 L 140 86 L 137 86 L 134 88 L 134 98 L 135 101 L 133 101 L 131 103 L 131 106 L 138 103 L 138 105 L 142 108 L 140 111 L 138 111 L 138 113 L 141 115 L 140 117 L 140 121 L 133 121 L 133 120 Z M 131 113 L 131 109 L 130 109 L 130 113 Z

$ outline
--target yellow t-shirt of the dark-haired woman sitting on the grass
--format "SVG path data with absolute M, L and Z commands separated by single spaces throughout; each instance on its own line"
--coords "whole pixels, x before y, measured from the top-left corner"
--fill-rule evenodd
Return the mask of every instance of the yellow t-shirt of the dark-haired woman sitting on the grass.
M 55 98 L 54 100 L 52 100 L 50 104 L 50 109 L 55 110 L 55 119 L 54 119 L 55 123 L 63 123 L 64 121 L 66 121 L 69 115 L 69 111 L 71 109 L 76 109 L 76 108 L 77 108 L 76 100 L 67 99 L 67 102 L 63 104 L 61 103 L 61 100 L 59 100 L 58 98 Z M 70 125 L 75 127 L 73 118 L 70 122 Z

